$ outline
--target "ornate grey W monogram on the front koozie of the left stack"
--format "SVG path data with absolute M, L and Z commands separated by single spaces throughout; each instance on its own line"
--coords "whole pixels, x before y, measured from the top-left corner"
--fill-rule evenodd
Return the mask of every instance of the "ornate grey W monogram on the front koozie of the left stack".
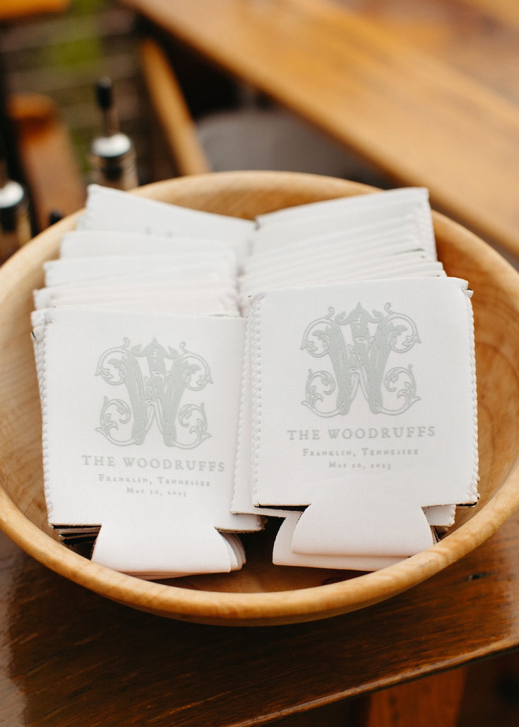
M 193 449 L 210 435 L 204 404 L 185 403 L 185 391 L 201 391 L 212 383 L 204 358 L 179 350 L 167 350 L 154 338 L 145 348 L 130 346 L 128 339 L 102 353 L 96 376 L 126 390 L 126 398 L 105 396 L 96 431 L 113 444 L 142 444 L 156 422 L 167 446 Z M 182 437 L 182 434 L 185 434 Z

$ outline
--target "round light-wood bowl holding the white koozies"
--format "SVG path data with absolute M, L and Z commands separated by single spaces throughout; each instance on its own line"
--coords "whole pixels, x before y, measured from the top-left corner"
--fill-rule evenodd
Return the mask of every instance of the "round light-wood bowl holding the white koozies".
M 142 196 L 209 212 L 254 217 L 294 204 L 371 192 L 363 185 L 278 172 L 228 172 L 159 182 Z M 438 254 L 448 274 L 474 289 L 480 493 L 477 507 L 423 553 L 370 574 L 273 566 L 273 529 L 244 538 L 248 562 L 233 574 L 147 582 L 91 563 L 57 542 L 47 526 L 41 418 L 31 345 L 31 292 L 42 263 L 57 257 L 62 220 L 0 270 L 0 526 L 49 568 L 127 606 L 200 623 L 281 624 L 369 606 L 429 578 L 488 538 L 519 504 L 519 276 L 494 250 L 440 214 Z

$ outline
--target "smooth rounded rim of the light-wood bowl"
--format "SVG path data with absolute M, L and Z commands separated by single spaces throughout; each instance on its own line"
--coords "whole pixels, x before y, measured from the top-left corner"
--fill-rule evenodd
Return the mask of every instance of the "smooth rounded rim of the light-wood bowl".
M 217 192 L 231 188 L 268 190 L 273 185 L 291 183 L 308 185 L 315 178 L 329 181 L 330 196 L 377 191 L 374 188 L 347 180 L 295 172 L 220 172 L 165 180 L 133 190 L 140 196 L 160 198 L 164 190 L 182 185 L 185 191 L 201 183 L 207 190 Z M 209 189 L 211 188 L 211 189 Z M 158 194 L 158 196 L 157 196 Z M 180 203 L 181 204 L 181 203 Z M 35 246 L 47 246 L 55 241 L 59 231 L 71 229 L 81 211 L 58 222 L 52 233 L 45 230 L 36 236 L 0 269 L 0 302 L 12 292 L 20 273 L 31 262 Z M 499 274 L 499 285 L 509 300 L 517 298 L 519 275 L 494 249 L 462 225 L 433 212 L 435 230 L 443 236 L 456 237 L 462 246 L 477 250 L 492 269 Z M 61 230 L 58 229 L 60 225 Z M 519 303 L 515 304 L 519 313 Z M 3 474 L 3 473 L 2 473 Z M 422 553 L 395 563 L 393 566 L 361 574 L 351 579 L 325 585 L 276 590 L 272 592 L 234 593 L 229 591 L 193 590 L 142 580 L 105 566 L 92 563 L 52 539 L 15 505 L 0 486 L 0 528 L 26 553 L 58 574 L 113 601 L 161 616 L 198 623 L 223 625 L 275 625 L 300 623 L 313 619 L 344 614 L 397 595 L 413 585 L 435 575 L 450 563 L 459 560 L 491 536 L 519 506 L 519 467 L 516 461 L 499 491 L 486 505 L 456 531 Z

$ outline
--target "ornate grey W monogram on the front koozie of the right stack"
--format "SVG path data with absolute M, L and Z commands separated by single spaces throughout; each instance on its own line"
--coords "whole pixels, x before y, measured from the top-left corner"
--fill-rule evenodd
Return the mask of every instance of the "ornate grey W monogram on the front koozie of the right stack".
M 411 365 L 386 372 L 392 353 L 406 353 L 419 343 L 411 318 L 393 312 L 390 303 L 386 315 L 370 314 L 360 303 L 348 315 L 328 310 L 307 326 L 301 349 L 315 358 L 328 357 L 333 374 L 310 369 L 302 403 L 320 417 L 334 417 L 350 411 L 359 389 L 374 414 L 402 414 L 419 401 Z M 331 408 L 321 408 L 326 402 Z

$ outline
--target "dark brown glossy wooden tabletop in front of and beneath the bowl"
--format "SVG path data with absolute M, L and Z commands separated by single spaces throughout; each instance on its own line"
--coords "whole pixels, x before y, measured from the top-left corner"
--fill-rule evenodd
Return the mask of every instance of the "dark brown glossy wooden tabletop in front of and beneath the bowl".
M 333 707 L 339 700 L 518 646 L 518 554 L 519 514 L 462 561 L 377 606 L 321 622 L 230 628 L 106 601 L 0 534 L 0 723 L 220 727 L 318 707 L 330 715 L 344 709 Z M 461 674 L 438 677 L 443 725 L 456 724 Z M 398 720 L 371 712 L 362 723 L 420 727 L 422 715 L 430 725 L 427 694 L 415 690 L 424 683 L 409 685 Z M 421 710 L 409 720 L 417 694 Z M 330 716 L 300 723 L 344 725 Z

